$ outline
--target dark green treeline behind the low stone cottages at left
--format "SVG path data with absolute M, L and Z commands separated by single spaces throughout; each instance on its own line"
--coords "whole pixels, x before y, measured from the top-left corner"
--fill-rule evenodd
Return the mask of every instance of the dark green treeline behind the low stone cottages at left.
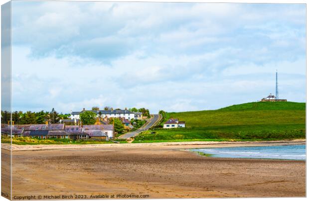
M 54 108 L 50 112 L 48 111 L 14 111 L 12 112 L 12 121 L 14 124 L 43 124 L 48 123 L 59 123 L 60 119 L 65 119 L 69 114 L 62 114 L 55 111 Z M 1 110 L 1 123 L 7 123 L 10 120 L 10 112 Z

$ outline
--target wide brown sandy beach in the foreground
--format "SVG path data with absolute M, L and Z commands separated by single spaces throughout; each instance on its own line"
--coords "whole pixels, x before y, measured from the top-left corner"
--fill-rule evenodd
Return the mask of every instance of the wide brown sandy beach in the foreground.
M 305 141 L 13 145 L 12 195 L 305 197 L 305 161 L 211 158 L 186 150 L 287 144 Z

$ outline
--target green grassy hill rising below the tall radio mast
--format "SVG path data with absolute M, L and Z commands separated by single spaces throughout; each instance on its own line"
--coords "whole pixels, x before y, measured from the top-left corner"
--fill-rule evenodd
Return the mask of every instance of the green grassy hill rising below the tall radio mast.
M 306 138 L 306 103 L 249 102 L 217 110 L 168 112 L 162 124 L 169 118 L 185 121 L 186 128 L 153 129 L 134 142 Z

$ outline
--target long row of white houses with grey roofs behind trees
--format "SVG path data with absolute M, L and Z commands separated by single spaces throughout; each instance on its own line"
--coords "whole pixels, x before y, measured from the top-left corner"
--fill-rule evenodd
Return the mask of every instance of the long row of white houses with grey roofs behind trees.
M 97 114 L 97 117 L 105 117 L 105 116 L 107 116 L 107 118 L 119 118 L 119 117 L 123 118 L 124 117 L 125 119 L 128 119 L 128 120 L 143 119 L 142 112 L 132 112 L 132 111 L 129 111 L 127 109 L 85 110 L 85 108 L 83 109 L 83 111 L 73 111 L 73 112 L 71 112 L 70 118 L 79 120 L 80 113 L 82 113 L 84 111 L 92 111 L 92 112 Z

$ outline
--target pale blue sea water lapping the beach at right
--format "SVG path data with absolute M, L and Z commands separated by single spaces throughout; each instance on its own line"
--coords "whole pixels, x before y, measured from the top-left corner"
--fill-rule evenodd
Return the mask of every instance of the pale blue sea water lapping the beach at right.
M 306 145 L 203 148 L 191 151 L 220 158 L 306 160 Z

